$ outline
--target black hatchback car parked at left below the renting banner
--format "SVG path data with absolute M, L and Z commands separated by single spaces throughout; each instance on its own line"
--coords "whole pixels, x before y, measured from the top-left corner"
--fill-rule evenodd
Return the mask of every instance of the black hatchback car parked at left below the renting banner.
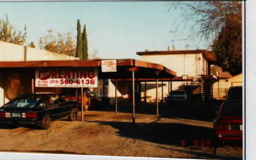
M 77 118 L 78 103 L 67 102 L 55 93 L 28 93 L 12 99 L 0 107 L 0 125 L 39 125 L 48 129 L 52 120 Z

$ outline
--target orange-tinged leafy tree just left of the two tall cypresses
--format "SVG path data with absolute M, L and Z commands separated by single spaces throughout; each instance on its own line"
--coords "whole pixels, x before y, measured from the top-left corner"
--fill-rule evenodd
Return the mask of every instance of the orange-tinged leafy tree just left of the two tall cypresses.
M 53 31 L 49 29 L 47 35 L 39 38 L 39 47 L 49 52 L 72 56 L 76 55 L 76 44 L 72 32 L 64 34 L 58 33 L 58 35 L 55 36 Z

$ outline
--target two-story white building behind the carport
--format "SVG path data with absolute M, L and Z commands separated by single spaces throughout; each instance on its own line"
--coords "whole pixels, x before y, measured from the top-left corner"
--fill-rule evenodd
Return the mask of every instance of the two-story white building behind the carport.
M 168 51 L 145 51 L 137 52 L 143 61 L 161 64 L 170 70 L 177 73 L 177 79 L 181 79 L 183 75 L 190 79 L 195 79 L 201 75 L 210 74 L 210 65 L 217 61 L 214 52 L 208 50 L 168 50 Z M 152 77 L 155 79 L 156 77 Z M 113 97 L 115 94 L 114 81 L 109 83 L 109 96 Z M 146 84 L 146 87 L 145 87 Z M 187 85 L 185 81 L 175 81 L 173 79 L 172 85 L 168 81 L 159 81 L 158 99 L 166 97 L 170 90 L 184 89 Z M 131 82 L 119 81 L 118 94 L 119 102 L 127 102 L 130 97 Z M 170 88 L 170 86 L 172 88 Z M 141 101 L 154 102 L 156 99 L 156 82 L 141 82 L 138 86 L 138 98 Z M 111 102 L 113 104 L 114 102 Z

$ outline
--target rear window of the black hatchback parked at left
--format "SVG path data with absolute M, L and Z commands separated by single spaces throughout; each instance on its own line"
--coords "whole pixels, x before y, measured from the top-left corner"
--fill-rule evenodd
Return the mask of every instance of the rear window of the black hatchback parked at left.
M 42 98 L 42 95 L 23 95 L 20 97 L 17 97 L 16 99 L 12 99 L 10 102 L 6 103 L 6 105 L 3 105 L 3 107 L 6 108 L 33 108 L 39 99 Z

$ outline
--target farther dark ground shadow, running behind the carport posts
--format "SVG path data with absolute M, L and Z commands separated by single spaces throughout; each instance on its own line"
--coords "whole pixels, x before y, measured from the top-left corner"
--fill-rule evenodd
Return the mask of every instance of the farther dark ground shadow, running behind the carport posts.
M 213 122 L 216 117 L 215 111 L 218 111 L 222 102 L 213 100 L 211 102 L 189 102 L 187 104 L 174 103 L 172 105 L 159 102 L 159 114 L 166 118 L 175 117 Z M 91 108 L 90 110 L 94 109 Z M 133 106 L 131 103 L 120 103 L 117 110 L 122 113 L 132 113 Z M 116 106 L 105 106 L 102 111 L 116 111 Z M 135 107 L 135 113 L 157 115 L 156 103 L 139 102 Z

